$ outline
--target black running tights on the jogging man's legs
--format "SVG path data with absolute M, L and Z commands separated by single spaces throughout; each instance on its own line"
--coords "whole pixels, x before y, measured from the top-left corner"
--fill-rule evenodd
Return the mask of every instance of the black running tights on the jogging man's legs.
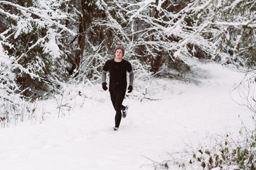
M 114 110 L 116 111 L 116 115 L 114 117 L 115 128 L 119 128 L 122 119 L 121 110 L 125 109 L 125 107 L 122 105 L 124 96 L 125 91 L 110 91 L 111 101 L 114 106 Z

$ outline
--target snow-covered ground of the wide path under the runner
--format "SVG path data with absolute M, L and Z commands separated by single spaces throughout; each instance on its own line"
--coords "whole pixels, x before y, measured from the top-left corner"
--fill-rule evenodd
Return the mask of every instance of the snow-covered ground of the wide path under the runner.
M 147 91 L 161 100 L 126 98 L 129 113 L 117 132 L 107 91 L 100 85 L 67 86 L 68 97 L 38 102 L 37 122 L 0 129 L 0 169 L 151 169 L 152 161 L 182 151 L 187 142 L 227 132 L 238 135 L 241 119 L 252 126 L 250 111 L 233 101 L 240 100 L 232 90 L 243 74 L 213 63 L 198 63 L 195 69 L 198 85 L 155 79 Z

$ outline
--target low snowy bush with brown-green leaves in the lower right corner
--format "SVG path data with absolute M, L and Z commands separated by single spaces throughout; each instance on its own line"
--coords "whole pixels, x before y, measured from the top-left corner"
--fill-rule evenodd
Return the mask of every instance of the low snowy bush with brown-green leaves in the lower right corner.
M 152 166 L 156 170 L 252 170 L 256 168 L 256 133 L 242 128 L 238 138 L 230 135 L 211 137 L 196 148 L 187 146 L 184 152 L 169 153 L 169 157 Z

